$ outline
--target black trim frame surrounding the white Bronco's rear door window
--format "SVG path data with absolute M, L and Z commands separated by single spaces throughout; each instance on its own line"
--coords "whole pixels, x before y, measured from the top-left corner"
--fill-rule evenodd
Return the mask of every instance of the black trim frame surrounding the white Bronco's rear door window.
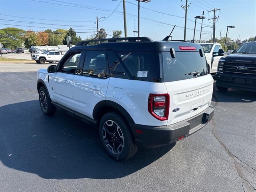
M 106 70 L 106 75 L 105 75 L 105 77 L 97 77 L 97 76 L 94 76 L 94 75 L 83 75 L 82 73 L 77 74 L 77 75 L 84 76 L 84 77 L 98 78 L 98 79 L 110 78 L 110 71 L 108 69 L 109 66 L 108 66 L 108 51 L 107 51 L 107 49 L 86 49 L 86 50 L 84 50 L 84 56 L 83 56 L 82 60 L 80 60 L 80 68 L 79 68 L 78 71 L 79 72 L 83 72 L 83 70 L 84 70 L 84 61 L 85 61 L 85 58 L 86 58 L 86 55 L 87 55 L 88 51 L 104 51 L 105 52 L 105 58 L 106 58 L 105 70 Z

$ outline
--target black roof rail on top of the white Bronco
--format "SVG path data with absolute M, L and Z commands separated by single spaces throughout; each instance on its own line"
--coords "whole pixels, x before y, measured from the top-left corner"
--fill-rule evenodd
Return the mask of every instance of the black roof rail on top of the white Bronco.
M 140 40 L 141 42 L 151 42 L 152 40 L 148 37 L 122 37 L 122 38 L 108 38 L 108 39 L 94 39 L 88 41 L 81 41 L 76 46 L 88 45 L 90 42 L 101 42 L 107 41 L 110 42 L 117 42 L 118 40 L 128 40 L 128 42 L 136 42 L 136 40 Z

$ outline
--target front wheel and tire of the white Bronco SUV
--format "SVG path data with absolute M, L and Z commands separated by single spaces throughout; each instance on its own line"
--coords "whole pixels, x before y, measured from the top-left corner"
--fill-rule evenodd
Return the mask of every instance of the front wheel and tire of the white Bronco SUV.
M 56 107 L 52 106 L 50 96 L 44 86 L 40 87 L 38 96 L 42 112 L 48 116 L 53 115 L 56 112 Z

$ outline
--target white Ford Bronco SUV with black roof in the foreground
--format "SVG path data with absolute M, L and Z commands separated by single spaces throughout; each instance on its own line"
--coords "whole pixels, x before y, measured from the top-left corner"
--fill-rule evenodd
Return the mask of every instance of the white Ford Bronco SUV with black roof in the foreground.
M 105 42 L 88 45 L 96 41 Z M 94 125 L 115 160 L 131 158 L 138 146 L 186 138 L 214 114 L 213 79 L 198 44 L 147 37 L 84 41 L 37 75 L 44 114 L 60 108 Z

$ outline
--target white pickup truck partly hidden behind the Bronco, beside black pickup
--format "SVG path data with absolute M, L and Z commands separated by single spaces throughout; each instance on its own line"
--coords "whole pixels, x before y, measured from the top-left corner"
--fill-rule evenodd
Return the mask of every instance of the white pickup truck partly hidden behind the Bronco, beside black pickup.
M 203 48 L 207 63 L 210 66 L 210 74 L 217 72 L 220 58 L 224 56 L 224 50 L 219 43 L 200 43 Z

